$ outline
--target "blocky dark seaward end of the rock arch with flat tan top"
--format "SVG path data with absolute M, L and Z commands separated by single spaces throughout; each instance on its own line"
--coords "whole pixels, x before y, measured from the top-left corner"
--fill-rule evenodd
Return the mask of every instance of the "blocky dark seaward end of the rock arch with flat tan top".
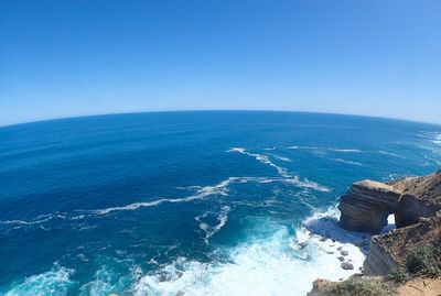
M 397 208 L 401 193 L 392 186 L 372 180 L 356 182 L 341 198 L 340 224 L 344 229 L 379 233 L 387 217 Z

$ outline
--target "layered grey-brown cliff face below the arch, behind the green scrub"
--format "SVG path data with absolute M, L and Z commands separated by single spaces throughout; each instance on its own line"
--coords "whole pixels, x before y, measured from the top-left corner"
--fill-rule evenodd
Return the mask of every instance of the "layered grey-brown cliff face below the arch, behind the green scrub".
M 435 245 L 441 242 L 441 212 L 431 218 L 421 218 L 419 223 L 375 235 L 363 264 L 366 275 L 386 275 L 391 267 L 406 266 L 411 249 Z

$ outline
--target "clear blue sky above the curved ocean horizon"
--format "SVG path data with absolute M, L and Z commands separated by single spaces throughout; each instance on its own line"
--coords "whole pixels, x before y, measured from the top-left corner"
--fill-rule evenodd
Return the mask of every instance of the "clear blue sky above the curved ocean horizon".
M 0 125 L 266 109 L 441 123 L 441 1 L 2 0 Z

